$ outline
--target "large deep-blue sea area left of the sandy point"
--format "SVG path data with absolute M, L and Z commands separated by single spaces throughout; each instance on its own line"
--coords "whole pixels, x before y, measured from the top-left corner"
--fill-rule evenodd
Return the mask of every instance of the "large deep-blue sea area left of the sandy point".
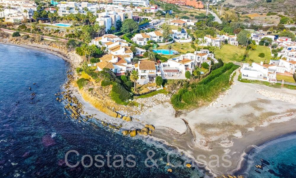
M 71 119 L 54 96 L 68 66 L 52 54 L 0 44 L 0 177 L 204 177 L 168 166 L 170 152 L 170 165 L 185 158 L 162 143 Z

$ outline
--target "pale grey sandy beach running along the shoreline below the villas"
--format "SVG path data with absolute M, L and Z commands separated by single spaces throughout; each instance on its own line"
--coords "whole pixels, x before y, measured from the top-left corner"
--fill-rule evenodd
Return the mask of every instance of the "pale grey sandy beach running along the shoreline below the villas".
M 9 43 L 7 40 L 1 43 Z M 72 67 L 79 65 L 82 59 L 76 54 L 63 53 L 59 48 L 50 49 L 48 45 L 18 45 L 33 50 L 51 53 L 70 62 Z M 74 56 L 74 57 L 73 57 Z M 76 56 L 76 57 L 75 57 Z M 69 59 L 70 58 L 70 59 Z M 284 88 L 270 88 L 263 85 L 242 83 L 234 78 L 234 85 L 223 93 L 214 106 L 205 106 L 189 113 L 175 117 L 175 110 L 169 103 L 159 104 L 147 109 L 141 115 L 133 117 L 138 120 L 126 122 L 120 118 L 110 117 L 98 111 L 94 106 L 83 99 L 81 93 L 72 88 L 75 95 L 84 106 L 88 114 L 96 114 L 96 118 L 116 125 L 122 124 L 121 130 L 141 128 L 145 123 L 152 124 L 156 130 L 151 136 L 140 136 L 146 140 L 159 141 L 194 158 L 197 162 L 209 163 L 213 160 L 210 155 L 231 155 L 231 166 L 228 168 L 210 167 L 213 175 L 233 173 L 240 169 L 243 156 L 254 145 L 259 146 L 277 136 L 296 131 L 296 105 L 281 99 L 270 98 L 258 91 L 272 91 L 284 93 L 287 96 L 296 96 L 295 90 Z M 205 159 L 197 159 L 197 155 L 205 155 Z M 226 158 L 227 159 L 227 158 Z M 225 163 L 225 162 L 224 162 Z M 226 163 L 225 163 L 226 164 Z M 255 169 L 255 167 L 254 167 Z

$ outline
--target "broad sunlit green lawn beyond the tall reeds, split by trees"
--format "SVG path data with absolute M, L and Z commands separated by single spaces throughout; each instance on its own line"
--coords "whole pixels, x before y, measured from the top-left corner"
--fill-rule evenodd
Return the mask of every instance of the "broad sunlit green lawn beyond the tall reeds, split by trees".
M 221 58 L 222 61 L 228 62 L 228 61 L 242 61 L 243 56 L 245 53 L 245 48 L 234 46 L 234 45 L 224 45 L 221 49 L 217 47 L 215 50 L 215 58 Z M 264 53 L 265 57 L 260 58 L 258 55 L 259 53 Z M 260 63 L 261 61 L 265 62 L 267 60 L 267 63 L 271 59 L 271 52 L 270 49 L 266 46 L 259 46 L 257 45 L 256 50 L 250 50 L 249 51 L 249 57 L 254 62 Z

